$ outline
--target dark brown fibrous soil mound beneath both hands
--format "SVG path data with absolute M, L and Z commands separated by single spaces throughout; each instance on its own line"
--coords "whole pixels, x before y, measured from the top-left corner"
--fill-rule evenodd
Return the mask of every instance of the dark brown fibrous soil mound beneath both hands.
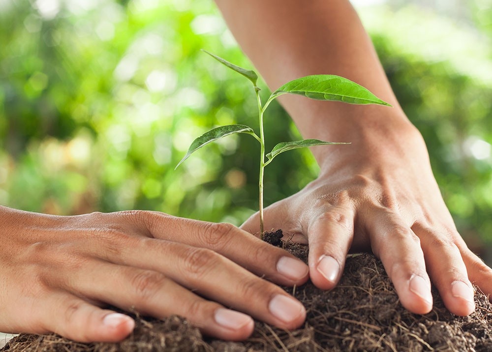
M 307 247 L 285 247 L 307 260 Z M 253 335 L 242 343 L 203 338 L 179 317 L 165 321 L 137 317 L 134 332 L 121 343 L 82 344 L 56 334 L 22 334 L 1 352 L 492 351 L 492 304 L 487 296 L 477 292 L 475 313 L 457 317 L 444 308 L 433 289 L 431 313 L 411 314 L 400 305 L 381 262 L 369 254 L 349 257 L 339 285 L 331 292 L 310 282 L 286 291 L 306 306 L 305 325 L 289 332 L 257 322 Z

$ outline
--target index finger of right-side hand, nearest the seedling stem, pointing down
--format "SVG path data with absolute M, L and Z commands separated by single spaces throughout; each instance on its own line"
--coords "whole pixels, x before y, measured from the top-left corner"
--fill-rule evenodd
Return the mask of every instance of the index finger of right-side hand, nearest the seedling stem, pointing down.
M 330 290 L 337 285 L 354 235 L 351 209 L 330 207 L 307 226 L 309 273 L 314 285 Z

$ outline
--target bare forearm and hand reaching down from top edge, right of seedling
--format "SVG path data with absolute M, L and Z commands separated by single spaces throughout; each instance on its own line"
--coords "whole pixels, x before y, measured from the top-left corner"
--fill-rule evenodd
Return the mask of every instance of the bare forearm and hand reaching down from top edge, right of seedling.
M 409 311 L 432 308 L 431 282 L 454 314 L 471 314 L 473 287 L 492 293 L 492 270 L 466 246 L 432 175 L 427 148 L 409 122 L 347 0 L 216 0 L 237 41 L 272 90 L 310 74 L 336 74 L 393 108 L 282 96 L 313 147 L 319 177 L 265 209 L 265 229 L 308 243 L 309 275 L 333 288 L 348 252 L 381 259 Z M 257 232 L 258 214 L 242 228 Z

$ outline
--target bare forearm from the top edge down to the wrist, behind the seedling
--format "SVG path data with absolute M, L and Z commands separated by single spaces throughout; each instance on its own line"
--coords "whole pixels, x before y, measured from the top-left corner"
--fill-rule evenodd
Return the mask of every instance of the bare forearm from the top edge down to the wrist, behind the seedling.
M 375 142 L 381 144 L 379 136 L 418 137 L 348 0 L 216 2 L 270 88 L 310 74 L 336 74 L 361 84 L 393 105 L 358 106 L 292 95 L 281 97 L 281 104 L 305 138 L 351 142 L 351 149 L 355 150 Z M 343 146 L 318 147 L 313 152 L 318 162 L 323 162 L 325 153 L 333 155 L 340 148 Z

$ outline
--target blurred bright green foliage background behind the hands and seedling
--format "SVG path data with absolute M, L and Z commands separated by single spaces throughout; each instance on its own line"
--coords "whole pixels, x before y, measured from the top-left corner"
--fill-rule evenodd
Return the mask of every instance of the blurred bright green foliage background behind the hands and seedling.
M 354 3 L 461 234 L 490 263 L 491 0 Z M 202 48 L 252 67 L 210 0 L 0 0 L 0 204 L 241 224 L 257 207 L 256 141 L 228 137 L 174 171 L 206 130 L 257 128 L 249 82 Z M 270 147 L 300 138 L 278 105 L 267 114 Z M 282 155 L 266 204 L 317 171 L 307 150 Z

